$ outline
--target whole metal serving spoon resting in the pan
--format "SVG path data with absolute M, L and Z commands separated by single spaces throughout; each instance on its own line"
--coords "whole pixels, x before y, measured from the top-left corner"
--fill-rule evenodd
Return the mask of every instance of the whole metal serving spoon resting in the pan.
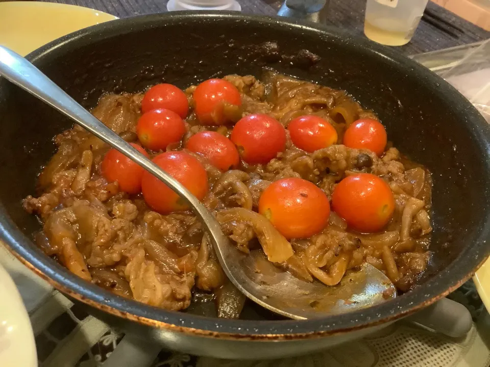
M 86 111 L 29 61 L 0 46 L 0 75 L 73 119 L 97 138 L 119 150 L 164 182 L 192 208 L 207 229 L 219 263 L 232 283 L 261 306 L 292 319 L 323 317 L 369 307 L 396 297 L 395 286 L 376 268 L 364 265 L 328 287 L 306 282 L 265 261 L 257 272 L 260 253 L 246 255 L 233 246 L 214 216 L 176 179 L 165 173 L 110 128 Z

